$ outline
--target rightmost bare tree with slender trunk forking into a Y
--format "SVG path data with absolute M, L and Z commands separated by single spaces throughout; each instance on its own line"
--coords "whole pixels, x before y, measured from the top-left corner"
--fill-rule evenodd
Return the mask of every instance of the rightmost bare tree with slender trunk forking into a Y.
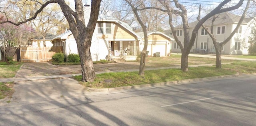
M 216 52 L 216 68 L 221 68 L 222 67 L 222 64 L 221 64 L 221 50 L 222 50 L 222 47 L 228 43 L 228 41 L 230 41 L 230 39 L 234 36 L 234 34 L 236 33 L 236 31 L 239 29 L 240 25 L 242 24 L 242 21 L 244 20 L 244 17 L 246 15 L 246 12 L 249 8 L 249 5 L 250 5 L 250 0 L 247 0 L 247 4 L 246 4 L 246 8 L 244 9 L 244 12 L 236 26 L 236 28 L 234 29 L 234 31 L 223 41 L 223 42 L 220 42 L 220 43 L 217 43 L 217 39 L 216 37 L 214 36 L 213 34 L 213 26 L 214 26 L 214 21 L 216 20 L 216 18 L 218 18 L 218 16 L 213 16 L 212 18 L 212 25 L 211 25 L 211 28 L 208 29 L 206 28 L 206 26 L 204 26 L 204 24 L 202 24 L 202 27 L 204 28 L 204 30 L 209 34 L 209 36 L 212 38 L 212 42 L 214 44 L 214 47 L 215 47 L 215 52 Z M 199 13 L 200 14 L 200 13 Z M 200 15 L 198 16 L 198 21 L 200 21 Z

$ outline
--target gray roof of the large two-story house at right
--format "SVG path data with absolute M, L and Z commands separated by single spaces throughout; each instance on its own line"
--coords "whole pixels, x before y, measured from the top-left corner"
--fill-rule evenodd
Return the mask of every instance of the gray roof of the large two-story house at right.
M 238 23 L 241 16 L 239 15 L 236 15 L 236 14 L 232 14 L 232 13 L 229 13 L 229 12 L 223 12 L 223 13 L 220 13 L 220 14 L 216 14 L 216 16 L 218 16 L 216 18 L 216 20 L 214 21 L 214 25 L 224 25 L 224 24 L 234 24 L 234 23 Z M 205 26 L 211 26 L 212 25 L 212 18 L 209 18 L 208 20 L 206 20 L 206 22 L 204 22 L 204 25 Z M 252 18 L 244 18 L 243 22 L 244 24 L 247 24 L 248 22 L 250 22 L 250 20 L 252 20 Z M 194 21 L 194 22 L 191 22 L 191 23 L 188 23 L 188 26 L 190 28 L 194 28 L 196 26 L 196 24 L 198 23 L 198 21 Z M 175 29 L 178 29 L 178 28 L 182 28 L 183 25 L 179 25 L 179 26 L 176 26 L 174 27 Z

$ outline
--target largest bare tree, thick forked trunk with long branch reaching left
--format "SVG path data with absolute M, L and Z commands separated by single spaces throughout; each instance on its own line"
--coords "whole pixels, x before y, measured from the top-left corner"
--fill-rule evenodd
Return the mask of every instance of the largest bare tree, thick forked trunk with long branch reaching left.
M 27 1 L 36 1 L 36 0 L 27 0 Z M 30 16 L 30 18 L 26 18 L 26 20 L 22 20 L 18 23 L 12 22 L 8 20 L 0 20 L 0 24 L 3 23 L 11 23 L 16 26 L 26 23 L 28 21 L 34 20 L 42 10 L 52 3 L 58 3 L 64 16 L 68 20 L 70 30 L 74 35 L 78 46 L 78 52 L 81 59 L 81 67 L 82 67 L 82 81 L 83 82 L 92 82 L 94 81 L 96 75 L 94 71 L 94 66 L 92 62 L 92 56 L 90 52 L 90 46 L 92 41 L 92 34 L 96 27 L 98 14 L 100 10 L 100 2 L 101 0 L 92 0 L 91 2 L 91 13 L 88 24 L 84 22 L 84 10 L 83 10 L 83 2 L 82 0 L 75 0 L 75 10 L 72 10 L 68 4 L 66 4 L 65 0 L 48 0 L 44 3 L 40 3 L 36 1 L 38 4 L 41 4 L 40 8 L 35 11 L 34 15 Z M 0 11 L 1 13 L 6 13 Z

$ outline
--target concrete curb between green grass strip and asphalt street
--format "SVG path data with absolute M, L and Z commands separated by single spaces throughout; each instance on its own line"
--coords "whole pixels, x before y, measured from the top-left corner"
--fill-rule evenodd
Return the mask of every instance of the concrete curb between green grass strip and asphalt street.
M 237 76 L 240 76 L 240 74 L 238 72 L 233 75 L 222 75 L 222 76 L 213 76 L 213 77 L 206 77 L 206 78 L 186 79 L 186 80 L 174 80 L 174 81 L 170 81 L 170 82 L 161 82 L 161 83 L 153 83 L 153 84 L 142 84 L 142 85 L 124 86 L 124 87 L 116 87 L 116 88 L 89 88 L 89 87 L 86 87 L 86 89 L 89 92 L 105 92 L 105 93 L 111 94 L 111 93 L 115 93 L 118 91 L 120 92 L 121 90 L 142 90 L 142 88 L 190 84 L 192 82 L 217 80 L 220 78 L 231 78 L 231 77 L 237 77 Z

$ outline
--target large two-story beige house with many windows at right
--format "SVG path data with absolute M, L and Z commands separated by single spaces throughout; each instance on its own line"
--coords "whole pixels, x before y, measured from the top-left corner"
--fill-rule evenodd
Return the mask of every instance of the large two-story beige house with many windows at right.
M 214 36 L 217 38 L 217 42 L 223 42 L 231 34 L 231 32 L 236 28 L 240 17 L 241 16 L 224 12 L 221 13 L 218 18 L 216 18 L 213 27 L 213 33 Z M 189 23 L 190 36 L 197 22 L 198 21 Z M 211 22 L 212 18 L 207 20 L 204 25 L 207 28 L 210 28 Z M 250 44 L 248 43 L 248 36 L 250 36 L 250 34 L 252 33 L 251 31 L 253 31 L 254 25 L 255 20 L 253 18 L 244 18 L 244 21 L 242 22 L 236 34 L 228 43 L 223 46 L 221 54 L 248 54 L 248 48 L 250 46 Z M 175 29 L 177 31 L 177 37 L 183 44 L 184 34 L 182 26 L 177 26 L 175 27 Z M 173 37 L 170 30 L 166 30 L 165 33 Z M 172 43 L 172 52 L 181 52 L 180 47 L 176 42 Z M 194 46 L 192 47 L 190 52 L 215 54 L 215 48 L 212 43 L 212 39 L 203 28 L 200 28 L 198 30 Z

